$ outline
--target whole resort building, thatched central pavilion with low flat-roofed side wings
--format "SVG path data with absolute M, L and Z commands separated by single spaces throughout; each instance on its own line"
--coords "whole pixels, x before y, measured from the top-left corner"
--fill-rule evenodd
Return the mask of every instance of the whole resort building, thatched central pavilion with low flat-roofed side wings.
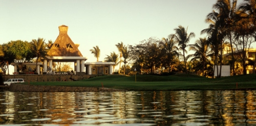
M 61 62 L 74 63 L 75 73 L 85 74 L 112 74 L 114 62 L 88 62 L 84 63 L 87 58 L 83 57 L 80 53 L 78 46 L 75 44 L 68 35 L 68 26 L 59 26 L 59 35 L 54 43 L 48 44 L 49 51 L 45 58 L 41 58 L 41 62 L 37 65 L 35 62 L 23 63 L 23 65 L 29 66 L 30 69 L 23 71 L 24 74 L 31 73 L 35 70 L 38 74 L 62 74 L 60 70 L 57 70 L 53 65 Z M 11 63 L 14 66 L 14 74 L 18 74 L 17 66 L 19 63 Z M 34 66 L 34 67 L 33 67 Z M 31 68 L 32 67 L 32 68 Z M 65 71 L 66 74 L 66 71 Z

